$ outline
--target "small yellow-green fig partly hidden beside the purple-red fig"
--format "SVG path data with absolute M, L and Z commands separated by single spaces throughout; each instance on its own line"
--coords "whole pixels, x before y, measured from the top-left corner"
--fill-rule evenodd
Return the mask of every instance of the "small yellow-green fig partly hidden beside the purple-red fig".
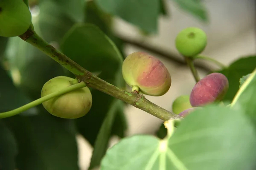
M 192 108 L 189 102 L 189 95 L 182 95 L 175 99 L 172 103 L 172 111 L 175 114 L 179 114 L 182 111 L 185 111 L 188 108 Z

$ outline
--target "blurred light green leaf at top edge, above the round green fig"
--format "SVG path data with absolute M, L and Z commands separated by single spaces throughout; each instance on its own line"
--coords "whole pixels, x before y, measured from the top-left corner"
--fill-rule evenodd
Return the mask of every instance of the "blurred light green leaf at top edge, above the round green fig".
M 184 11 L 192 14 L 200 20 L 207 22 L 208 14 L 200 0 L 173 0 Z

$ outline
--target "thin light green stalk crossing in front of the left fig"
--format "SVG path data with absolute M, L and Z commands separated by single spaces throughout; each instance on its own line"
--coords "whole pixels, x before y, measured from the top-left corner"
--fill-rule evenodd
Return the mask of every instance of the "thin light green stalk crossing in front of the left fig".
M 0 113 L 0 119 L 6 118 L 6 117 L 15 116 L 15 115 L 17 115 L 19 113 L 22 113 L 23 111 L 26 111 L 26 110 L 28 110 L 30 108 L 33 108 L 33 107 L 35 107 L 37 105 L 40 105 L 41 103 L 46 102 L 47 100 L 52 99 L 52 98 L 54 98 L 56 96 L 61 96 L 62 94 L 66 94 L 66 93 L 68 93 L 70 91 L 74 91 L 74 90 L 77 90 L 79 88 L 84 88 L 84 87 L 86 87 L 86 83 L 84 83 L 84 82 L 80 82 L 80 83 L 77 83 L 75 85 L 70 85 L 67 88 L 61 89 L 60 91 L 56 91 L 56 92 L 54 92 L 52 94 L 48 94 L 48 95 L 46 95 L 44 97 L 36 99 L 33 102 L 30 102 L 30 103 L 28 103 L 26 105 L 21 106 L 20 108 L 16 108 L 16 109 L 14 109 L 12 111 L 7 111 L 7 112 Z

